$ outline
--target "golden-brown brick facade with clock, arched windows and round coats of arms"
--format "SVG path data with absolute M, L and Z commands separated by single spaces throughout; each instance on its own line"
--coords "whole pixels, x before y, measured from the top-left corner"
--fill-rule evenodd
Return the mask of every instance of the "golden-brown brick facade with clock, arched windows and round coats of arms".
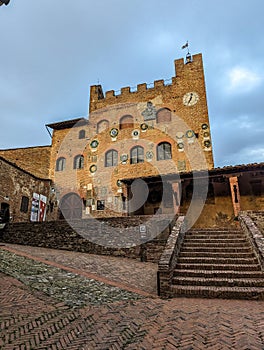
M 168 85 L 158 80 L 151 88 L 139 84 L 135 92 L 121 88 L 119 95 L 91 86 L 89 121 L 48 125 L 53 129 L 50 178 L 60 200 L 78 194 L 84 216 L 175 213 L 172 183 L 118 186 L 129 179 L 213 168 L 202 55 L 191 63 L 176 60 L 175 71 Z M 76 170 L 78 156 L 83 164 Z M 63 171 L 56 171 L 60 160 Z M 145 204 L 140 203 L 143 190 Z

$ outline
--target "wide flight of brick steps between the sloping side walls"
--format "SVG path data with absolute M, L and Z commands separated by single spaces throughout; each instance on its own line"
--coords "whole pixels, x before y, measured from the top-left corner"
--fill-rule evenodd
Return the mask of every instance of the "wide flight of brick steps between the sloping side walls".
M 190 230 L 172 279 L 175 296 L 264 299 L 264 271 L 240 230 Z

